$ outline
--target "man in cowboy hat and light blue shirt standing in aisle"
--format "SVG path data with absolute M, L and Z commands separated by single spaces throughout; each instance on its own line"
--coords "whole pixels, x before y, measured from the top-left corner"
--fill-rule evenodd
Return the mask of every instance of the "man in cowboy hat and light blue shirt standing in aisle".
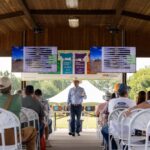
M 83 99 L 86 99 L 86 93 L 82 87 L 79 86 L 80 81 L 75 78 L 73 80 L 74 87 L 70 89 L 68 94 L 68 106 L 70 107 L 71 113 L 71 131 L 69 135 L 75 136 L 75 132 L 78 136 L 80 136 L 80 129 L 81 129 L 81 112 L 82 112 L 82 102 Z M 77 121 L 75 120 L 77 117 Z M 76 125 L 75 125 L 76 124 Z

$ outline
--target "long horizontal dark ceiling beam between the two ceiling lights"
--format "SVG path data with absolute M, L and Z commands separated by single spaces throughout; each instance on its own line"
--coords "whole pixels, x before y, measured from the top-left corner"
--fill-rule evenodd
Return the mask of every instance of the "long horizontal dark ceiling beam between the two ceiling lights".
M 116 11 L 112 9 L 32 9 L 33 15 L 115 15 Z

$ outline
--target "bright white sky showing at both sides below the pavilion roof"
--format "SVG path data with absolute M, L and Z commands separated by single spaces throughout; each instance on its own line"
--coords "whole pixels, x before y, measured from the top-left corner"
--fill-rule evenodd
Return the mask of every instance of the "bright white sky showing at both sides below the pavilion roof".
M 145 68 L 146 66 L 150 67 L 150 58 L 137 58 L 137 71 L 141 68 Z M 0 71 L 8 70 L 11 72 L 11 58 L 10 57 L 0 57 Z M 15 73 L 17 77 L 21 77 L 20 73 Z M 127 74 L 128 77 L 132 75 L 132 73 Z

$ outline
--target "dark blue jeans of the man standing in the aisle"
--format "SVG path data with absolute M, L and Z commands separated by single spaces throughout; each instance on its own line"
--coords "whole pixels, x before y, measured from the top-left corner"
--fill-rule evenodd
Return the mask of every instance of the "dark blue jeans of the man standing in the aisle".
M 70 112 L 71 112 L 71 132 L 79 133 L 81 130 L 80 118 L 82 112 L 82 105 L 77 105 L 77 106 L 71 105 Z M 75 119 L 75 117 L 77 117 L 77 120 Z

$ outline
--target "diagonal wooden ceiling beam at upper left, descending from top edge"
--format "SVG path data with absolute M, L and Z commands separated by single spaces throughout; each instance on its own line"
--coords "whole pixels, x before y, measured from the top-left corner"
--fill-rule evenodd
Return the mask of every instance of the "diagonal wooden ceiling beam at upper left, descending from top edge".
M 30 11 L 29 11 L 29 8 L 28 8 L 26 1 L 25 0 L 18 0 L 17 2 L 20 5 L 22 11 L 24 12 L 28 27 L 30 29 L 37 28 L 38 25 L 36 24 L 34 18 L 30 14 Z

